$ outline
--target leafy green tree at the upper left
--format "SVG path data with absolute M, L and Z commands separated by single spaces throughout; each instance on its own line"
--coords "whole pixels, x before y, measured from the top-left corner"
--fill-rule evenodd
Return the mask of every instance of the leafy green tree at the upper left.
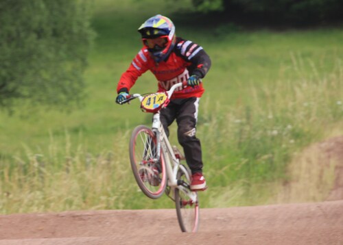
M 82 0 L 0 1 L 0 109 L 80 101 L 93 40 L 89 7 Z

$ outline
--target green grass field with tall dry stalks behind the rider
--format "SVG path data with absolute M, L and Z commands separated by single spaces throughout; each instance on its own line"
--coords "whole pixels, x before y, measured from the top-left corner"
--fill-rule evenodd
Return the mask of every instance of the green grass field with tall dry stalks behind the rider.
M 154 11 L 147 3 L 155 1 L 96 1 L 84 107 L 0 114 L 0 213 L 173 207 L 166 197 L 152 201 L 138 192 L 130 172 L 130 131 L 149 125 L 150 115 L 138 103 L 114 103 L 117 81 L 141 47 L 136 30 L 157 13 L 213 62 L 198 123 L 209 185 L 202 207 L 266 203 L 289 178 L 294 152 L 343 133 L 342 29 L 192 27 L 169 1 Z M 131 92 L 154 90 L 154 77 L 145 74 Z

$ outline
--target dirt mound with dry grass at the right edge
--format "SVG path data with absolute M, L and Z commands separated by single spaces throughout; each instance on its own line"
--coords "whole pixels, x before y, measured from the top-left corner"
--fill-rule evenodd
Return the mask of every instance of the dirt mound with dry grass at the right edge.
M 343 200 L 343 136 L 295 153 L 287 176 L 287 181 L 276 188 L 270 203 Z

